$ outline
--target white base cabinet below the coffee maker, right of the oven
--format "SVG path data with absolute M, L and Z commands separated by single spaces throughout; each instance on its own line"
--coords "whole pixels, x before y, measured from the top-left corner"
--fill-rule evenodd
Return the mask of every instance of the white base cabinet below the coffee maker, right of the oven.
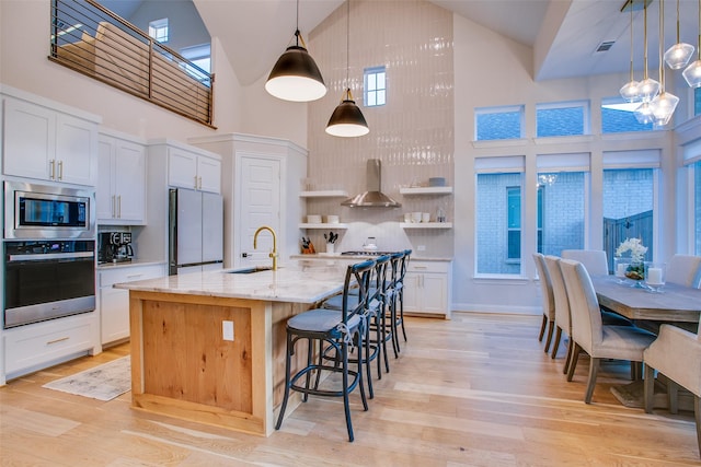
M 129 337 L 129 291 L 114 289 L 120 282 L 165 276 L 165 265 L 108 266 L 99 270 L 100 335 L 103 345 Z

